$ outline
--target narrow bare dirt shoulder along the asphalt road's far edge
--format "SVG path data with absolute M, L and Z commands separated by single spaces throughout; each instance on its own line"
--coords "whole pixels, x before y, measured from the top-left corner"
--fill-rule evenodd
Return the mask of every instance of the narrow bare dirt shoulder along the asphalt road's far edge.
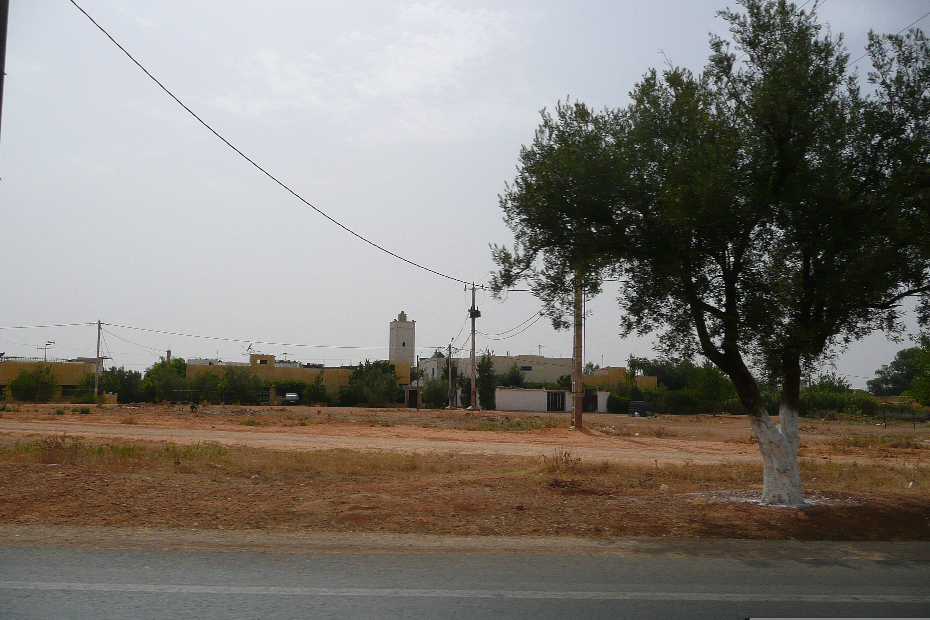
M 0 547 L 266 553 L 678 557 L 757 560 L 930 561 L 930 542 L 722 538 L 604 538 L 0 526 Z

